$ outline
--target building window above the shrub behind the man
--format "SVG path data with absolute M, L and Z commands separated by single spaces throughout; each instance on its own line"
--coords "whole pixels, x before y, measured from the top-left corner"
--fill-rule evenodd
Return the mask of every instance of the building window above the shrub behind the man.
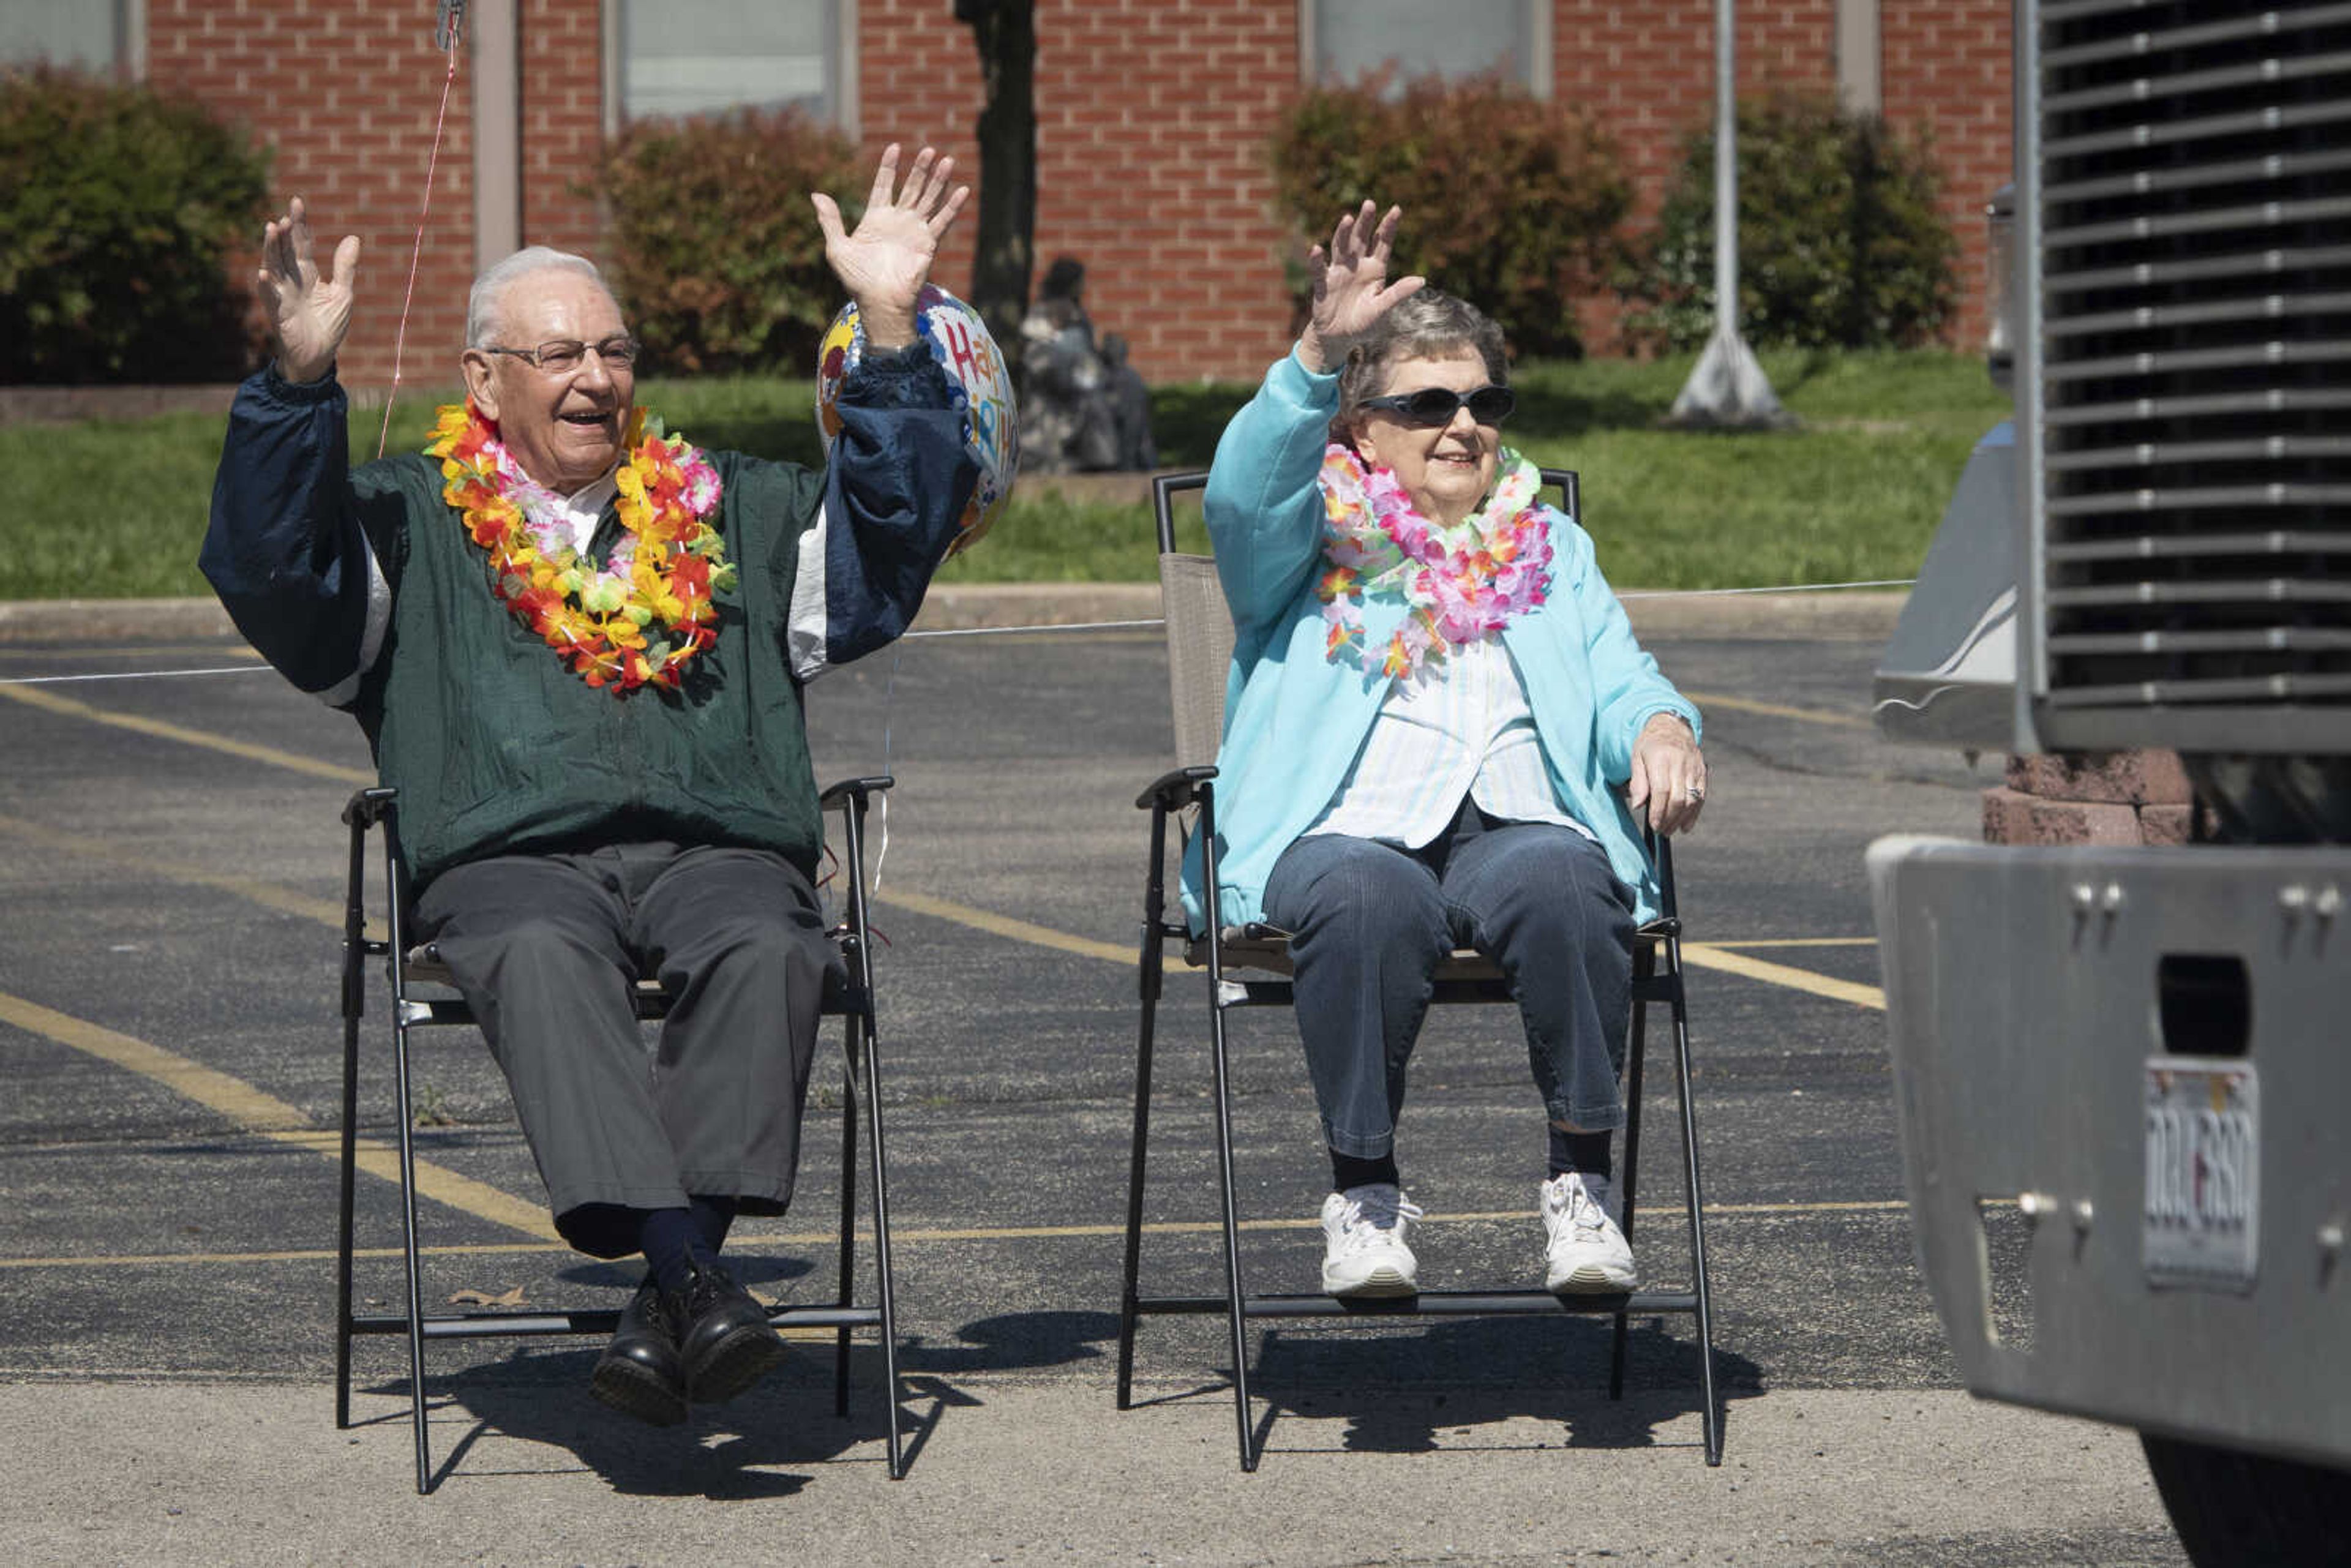
M 846 0 L 614 0 L 621 118 L 799 108 L 844 122 Z

